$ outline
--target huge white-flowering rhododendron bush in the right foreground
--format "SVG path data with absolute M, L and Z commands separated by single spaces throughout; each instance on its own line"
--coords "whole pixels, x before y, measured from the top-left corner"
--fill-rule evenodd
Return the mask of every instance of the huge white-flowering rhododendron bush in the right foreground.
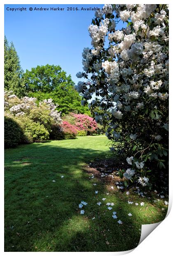
M 96 95 L 91 112 L 129 165 L 119 171 L 124 184 L 151 187 L 168 170 L 168 6 L 105 5 L 89 35 L 92 48 L 84 48 L 77 73 L 87 79 L 76 85 L 82 104 Z

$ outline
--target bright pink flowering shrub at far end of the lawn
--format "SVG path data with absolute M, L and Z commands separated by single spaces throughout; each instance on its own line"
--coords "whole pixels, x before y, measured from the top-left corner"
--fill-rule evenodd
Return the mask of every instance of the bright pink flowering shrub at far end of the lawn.
M 84 131 L 86 135 L 96 133 L 98 128 L 96 121 L 84 114 L 71 113 L 69 116 L 66 116 L 65 120 L 74 125 L 77 131 Z

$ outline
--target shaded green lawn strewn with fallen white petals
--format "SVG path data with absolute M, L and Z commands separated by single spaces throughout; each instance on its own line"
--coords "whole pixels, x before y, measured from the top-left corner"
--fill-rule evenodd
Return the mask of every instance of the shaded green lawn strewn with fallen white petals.
M 95 158 L 110 157 L 107 142 L 87 136 L 5 150 L 5 251 L 126 251 L 138 245 L 141 224 L 164 219 L 162 200 L 153 204 L 114 190 L 107 195 L 107 186 L 82 171 Z M 114 203 L 111 211 L 107 202 Z

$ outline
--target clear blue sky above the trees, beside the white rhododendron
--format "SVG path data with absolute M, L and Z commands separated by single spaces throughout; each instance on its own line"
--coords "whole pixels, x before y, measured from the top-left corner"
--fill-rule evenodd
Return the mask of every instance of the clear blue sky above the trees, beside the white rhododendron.
M 7 7 L 26 7 L 26 11 L 7 11 Z M 29 7 L 46 7 L 49 11 L 30 11 Z M 50 11 L 61 7 L 64 11 Z M 13 42 L 24 71 L 37 65 L 54 64 L 75 75 L 82 71 L 82 51 L 91 47 L 88 26 L 94 11 L 67 11 L 67 7 L 100 7 L 103 5 L 5 5 L 5 36 Z M 118 24 L 121 29 L 123 24 Z

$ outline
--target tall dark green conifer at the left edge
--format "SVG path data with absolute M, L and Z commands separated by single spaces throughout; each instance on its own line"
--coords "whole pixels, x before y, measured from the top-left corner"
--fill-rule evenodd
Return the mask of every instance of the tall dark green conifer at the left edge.
M 14 44 L 9 45 L 7 38 L 4 39 L 4 87 L 5 90 L 12 90 L 17 96 L 24 95 L 24 84 L 22 80 L 23 70 L 21 69 L 19 56 Z

